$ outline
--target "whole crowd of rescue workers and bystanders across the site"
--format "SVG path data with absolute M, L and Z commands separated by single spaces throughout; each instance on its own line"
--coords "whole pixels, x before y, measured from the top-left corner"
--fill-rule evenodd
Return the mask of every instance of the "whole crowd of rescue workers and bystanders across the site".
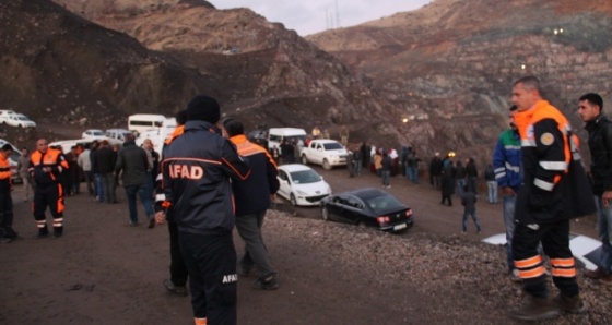
M 589 133 L 589 181 L 577 137 L 565 116 L 542 97 L 539 80 L 526 76 L 516 81 L 511 101 L 510 128 L 499 135 L 492 164 L 482 173 L 489 203 L 497 203 L 497 188 L 501 189 L 508 273 L 522 282 L 526 293 L 525 302 L 510 315 L 533 321 L 557 316 L 560 311 L 581 313 L 587 305 L 579 293 L 569 249 L 569 220 L 597 212 L 601 261 L 597 270 L 585 275 L 612 284 L 612 121 L 602 112 L 601 96 L 589 93 L 579 98 L 578 113 Z M 123 147 L 117 151 L 103 141 L 63 154 L 48 147 L 45 139 L 36 141 L 28 156 L 24 148 L 20 176 L 25 178 L 24 200 L 32 196 L 34 201 L 37 238 L 49 233 L 47 208 L 52 216 L 52 237 L 62 236 L 63 195 L 80 193 L 81 177 L 92 197 L 114 204 L 117 177 L 121 174 L 130 225 L 138 225 L 137 194 L 144 204 L 149 228 L 168 224 L 172 261 L 166 288 L 177 296 L 190 293 L 195 324 L 235 324 L 237 274 L 247 276 L 257 267 L 254 289 L 279 287 L 261 228 L 279 189 L 276 164 L 294 160 L 281 154 L 289 152 L 289 146 L 268 152 L 247 140 L 242 121 L 229 118 L 220 123 L 220 116 L 214 98 L 193 98 L 177 115 L 180 125 L 166 141 L 161 161 L 150 143 L 138 147 L 133 136 L 127 136 Z M 320 134 L 317 128 L 313 130 L 313 136 Z M 341 141 L 349 147 L 350 177 L 369 169 L 380 177 L 385 188 L 391 186 L 390 177 L 395 174 L 419 183 L 422 159 L 413 147 L 403 146 L 398 153 L 363 143 L 351 148 L 348 130 L 341 132 Z M 12 184 L 7 162 L 11 152 L 10 145 L 0 148 L 2 243 L 17 238 L 12 229 Z M 435 153 L 428 169 L 429 183 L 439 189 L 442 204 L 451 206 L 451 196 L 460 197 L 464 206 L 462 232 L 467 232 L 469 217 L 480 232 L 475 209 L 480 173 L 474 159 L 458 159 L 452 152 L 444 157 Z M 153 205 L 155 181 L 157 195 Z M 32 192 L 30 183 L 34 184 Z M 234 227 L 245 242 L 240 258 L 232 239 Z M 549 299 L 548 274 L 560 290 L 554 301 Z

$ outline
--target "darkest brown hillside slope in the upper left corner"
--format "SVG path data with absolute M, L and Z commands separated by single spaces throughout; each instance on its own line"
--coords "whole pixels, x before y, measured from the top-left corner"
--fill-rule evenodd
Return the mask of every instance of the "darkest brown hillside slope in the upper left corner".
M 0 103 L 39 122 L 123 125 L 173 112 L 210 84 L 172 56 L 46 0 L 0 3 Z

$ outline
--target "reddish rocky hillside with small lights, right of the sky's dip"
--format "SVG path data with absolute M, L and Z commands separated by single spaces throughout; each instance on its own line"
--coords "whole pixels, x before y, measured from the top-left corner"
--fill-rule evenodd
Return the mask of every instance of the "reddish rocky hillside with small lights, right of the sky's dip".
M 434 133 L 461 154 L 491 152 L 511 82 L 541 77 L 548 97 L 581 125 L 576 98 L 612 99 L 612 2 L 604 0 L 436 0 L 360 26 L 308 37 L 391 100 L 395 115 L 429 117 Z M 410 123 L 408 123 L 410 124 Z

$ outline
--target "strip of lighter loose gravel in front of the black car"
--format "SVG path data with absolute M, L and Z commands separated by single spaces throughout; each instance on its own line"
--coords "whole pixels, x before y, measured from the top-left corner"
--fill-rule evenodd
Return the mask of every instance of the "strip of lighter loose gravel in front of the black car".
M 511 323 L 509 308 L 520 304 L 520 285 L 507 275 L 505 248 L 466 240 L 462 237 L 436 238 L 424 234 L 388 234 L 351 225 L 302 219 L 287 213 L 269 212 L 264 237 L 284 237 L 286 241 L 311 251 L 326 251 L 322 264 L 341 267 L 341 274 L 355 270 L 376 288 L 391 288 L 410 282 L 424 296 L 445 302 L 432 305 L 427 312 L 448 320 L 474 317 L 474 323 Z M 273 252 L 272 258 L 273 258 Z M 276 261 L 282 263 L 281 261 Z M 599 285 L 578 272 L 581 294 L 588 312 L 563 314 L 546 324 L 612 323 L 612 287 Z M 556 288 L 549 280 L 551 297 Z M 366 292 L 367 294 L 367 292 Z M 451 301 L 451 303 L 448 303 Z M 462 323 L 459 321 L 459 323 Z

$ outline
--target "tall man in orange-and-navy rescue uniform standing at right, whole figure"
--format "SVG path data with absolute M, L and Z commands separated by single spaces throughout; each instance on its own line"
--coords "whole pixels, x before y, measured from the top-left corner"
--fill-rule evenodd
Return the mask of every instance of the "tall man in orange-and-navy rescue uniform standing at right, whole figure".
M 576 266 L 569 249 L 569 219 L 595 212 L 595 203 L 567 119 L 541 96 L 540 82 L 526 76 L 514 84 L 515 123 L 521 141 L 523 184 L 516 204 L 511 242 L 515 266 L 523 279 L 525 303 L 510 315 L 544 320 L 558 309 L 580 313 Z M 542 242 L 560 289 L 556 305 L 548 300 L 545 268 L 538 245 Z

